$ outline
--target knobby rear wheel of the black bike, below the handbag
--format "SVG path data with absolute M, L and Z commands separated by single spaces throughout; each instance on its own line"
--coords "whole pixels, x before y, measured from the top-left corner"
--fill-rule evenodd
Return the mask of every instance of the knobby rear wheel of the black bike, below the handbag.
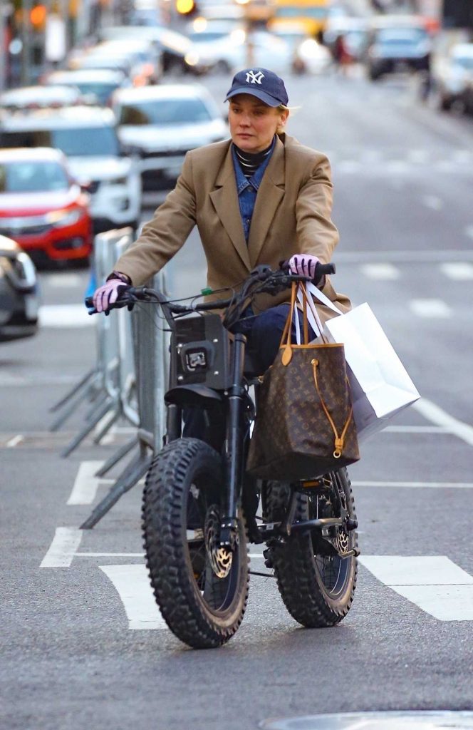
M 346 469 L 331 472 L 322 488 L 297 493 L 296 520 L 339 517 L 340 507 L 355 520 L 355 504 Z M 336 492 L 335 492 L 336 490 Z M 339 499 L 337 497 L 339 495 Z M 284 518 L 291 496 L 287 483 L 266 485 L 264 516 L 268 522 Z M 331 543 L 320 537 L 320 530 L 293 532 L 288 541 L 272 545 L 269 558 L 274 566 L 282 600 L 296 621 L 311 628 L 334 626 L 350 610 L 355 592 L 355 556 L 341 558 L 357 545 L 355 531 L 331 528 Z

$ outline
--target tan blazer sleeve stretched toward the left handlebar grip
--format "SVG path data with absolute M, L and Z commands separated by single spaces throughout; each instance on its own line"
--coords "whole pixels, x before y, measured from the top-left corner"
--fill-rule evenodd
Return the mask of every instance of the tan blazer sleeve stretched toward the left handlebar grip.
M 196 195 L 192 155 L 188 153 L 176 187 L 113 268 L 130 277 L 134 286 L 144 284 L 180 250 L 195 225 Z

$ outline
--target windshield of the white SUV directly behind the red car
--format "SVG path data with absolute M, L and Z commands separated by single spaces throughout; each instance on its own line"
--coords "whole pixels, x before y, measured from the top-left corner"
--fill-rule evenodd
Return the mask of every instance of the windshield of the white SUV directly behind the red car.
M 113 127 L 70 127 L 27 131 L 3 131 L 2 147 L 55 147 L 69 157 L 118 157 L 119 146 Z

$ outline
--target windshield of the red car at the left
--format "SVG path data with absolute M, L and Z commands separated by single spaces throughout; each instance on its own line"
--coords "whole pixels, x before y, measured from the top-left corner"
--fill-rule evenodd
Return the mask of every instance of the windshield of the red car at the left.
M 47 193 L 68 188 L 66 172 L 55 162 L 0 162 L 0 193 Z

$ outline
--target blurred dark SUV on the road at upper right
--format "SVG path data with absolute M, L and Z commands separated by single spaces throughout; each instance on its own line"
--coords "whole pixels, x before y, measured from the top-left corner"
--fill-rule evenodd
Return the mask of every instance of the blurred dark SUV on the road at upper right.
M 378 28 L 366 52 L 366 68 L 371 80 L 408 69 L 429 68 L 431 38 L 425 28 L 392 26 Z

